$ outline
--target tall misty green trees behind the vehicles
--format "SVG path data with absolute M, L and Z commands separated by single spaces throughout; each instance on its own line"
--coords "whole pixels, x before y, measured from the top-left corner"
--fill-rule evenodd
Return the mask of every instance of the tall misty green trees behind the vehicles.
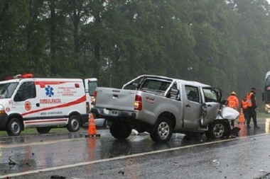
M 1 0 L 1 79 L 89 78 L 119 88 L 141 74 L 236 91 L 263 89 L 266 0 Z

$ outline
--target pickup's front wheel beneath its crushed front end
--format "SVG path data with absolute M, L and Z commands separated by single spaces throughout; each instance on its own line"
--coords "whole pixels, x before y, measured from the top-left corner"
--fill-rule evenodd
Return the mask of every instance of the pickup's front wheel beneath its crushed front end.
M 205 132 L 205 136 L 209 139 L 221 139 L 228 137 L 229 135 L 229 125 L 225 121 L 215 120 L 210 123 L 208 131 Z

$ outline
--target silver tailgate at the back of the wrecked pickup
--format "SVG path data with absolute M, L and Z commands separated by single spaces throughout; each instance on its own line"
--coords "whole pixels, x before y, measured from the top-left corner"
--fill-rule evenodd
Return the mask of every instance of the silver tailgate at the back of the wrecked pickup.
M 114 110 L 134 110 L 136 91 L 101 87 L 97 87 L 96 91 L 95 107 Z

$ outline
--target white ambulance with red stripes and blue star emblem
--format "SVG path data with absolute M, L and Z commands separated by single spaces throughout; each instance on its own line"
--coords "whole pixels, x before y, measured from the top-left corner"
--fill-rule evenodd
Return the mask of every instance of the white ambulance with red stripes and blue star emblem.
M 35 127 L 47 134 L 53 127 L 77 132 L 88 122 L 97 79 L 38 79 L 32 74 L 0 81 L 0 130 L 18 136 Z

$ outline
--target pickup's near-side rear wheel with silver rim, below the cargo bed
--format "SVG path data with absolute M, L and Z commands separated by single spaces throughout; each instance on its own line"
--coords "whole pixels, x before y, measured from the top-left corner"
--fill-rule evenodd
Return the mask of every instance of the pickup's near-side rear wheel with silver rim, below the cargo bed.
M 173 134 L 173 125 L 168 117 L 160 117 L 151 132 L 150 137 L 153 142 L 168 142 Z

